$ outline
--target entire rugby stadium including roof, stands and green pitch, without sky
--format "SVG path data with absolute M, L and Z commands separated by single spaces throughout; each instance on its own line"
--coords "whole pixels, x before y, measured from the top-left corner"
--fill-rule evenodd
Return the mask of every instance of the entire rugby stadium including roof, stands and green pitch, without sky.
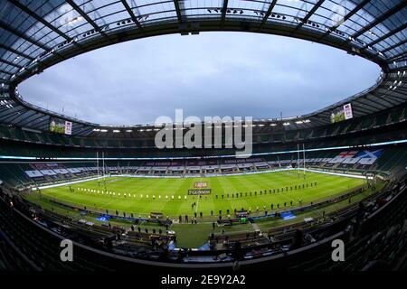
M 236 138 L 174 144 L 195 126 L 100 125 L 19 91 L 89 51 L 212 32 L 324 44 L 380 77 L 301 116 L 209 125 L 250 127 L 251 154 Z M 404 0 L 0 1 L 0 268 L 406 270 L 406 40 Z M 158 147 L 163 131 L 175 139 Z

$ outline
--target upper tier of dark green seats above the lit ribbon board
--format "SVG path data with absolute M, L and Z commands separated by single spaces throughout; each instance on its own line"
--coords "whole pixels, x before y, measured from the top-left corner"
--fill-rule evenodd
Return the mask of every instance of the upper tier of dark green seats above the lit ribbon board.
M 342 125 L 341 125 L 342 126 Z M 4 126 L 0 126 L 0 132 L 5 130 Z M 389 126 L 385 129 L 380 128 L 374 131 L 374 134 L 365 131 L 363 134 L 353 134 L 353 135 L 340 135 L 334 137 L 321 137 L 322 131 L 326 131 L 327 128 L 318 127 L 315 129 L 309 129 L 308 132 L 315 135 L 316 138 L 305 138 L 298 141 L 283 142 L 285 137 L 284 134 L 275 135 L 259 135 L 261 144 L 253 145 L 253 153 L 263 153 L 270 151 L 285 151 L 285 150 L 296 150 L 297 144 L 305 143 L 307 148 L 317 148 L 317 147 L 335 147 L 335 146 L 347 146 L 347 145 L 360 145 L 360 144 L 373 144 L 380 142 L 388 142 L 391 140 L 401 140 L 407 138 L 406 131 L 401 125 Z M 298 132 L 290 133 L 293 135 L 298 135 Z M 24 135 L 30 135 L 30 132 L 24 131 Z M 50 157 L 95 157 L 97 152 L 101 154 L 104 152 L 108 157 L 168 157 L 168 156 L 201 156 L 201 155 L 219 155 L 219 154 L 234 154 L 233 149 L 223 148 L 222 150 L 213 149 L 196 149 L 196 150 L 158 150 L 155 147 L 152 148 L 127 148 L 123 146 L 118 147 L 105 147 L 105 148 L 95 148 L 91 144 L 97 144 L 97 140 L 88 139 L 91 144 L 90 147 L 76 147 L 70 144 L 67 145 L 53 145 L 53 144 L 43 144 L 45 140 L 49 138 L 47 134 L 36 134 L 42 137 L 42 144 L 29 144 L 27 142 L 18 142 L 12 140 L 5 140 L 0 138 L 0 154 L 1 155 L 15 155 L 15 156 L 34 156 L 39 158 L 50 158 Z M 64 137 L 69 139 L 68 136 L 54 135 L 54 137 Z M 71 137 L 76 141 L 82 142 L 82 139 Z M 269 141 L 275 142 L 275 144 L 269 144 Z M 51 140 L 47 141 L 50 143 Z M 100 141 L 103 142 L 103 141 Z M 82 142 L 83 143 L 83 142 Z M 277 144 L 276 144 L 277 143 Z M 121 143 L 120 143 L 121 144 Z

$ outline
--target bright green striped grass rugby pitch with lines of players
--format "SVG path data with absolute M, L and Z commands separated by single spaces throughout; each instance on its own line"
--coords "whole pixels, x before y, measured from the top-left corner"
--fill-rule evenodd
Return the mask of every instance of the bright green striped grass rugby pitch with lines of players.
M 202 198 L 188 195 L 188 190 L 196 189 L 194 188 L 195 182 L 207 182 L 205 189 L 211 189 L 211 194 L 202 196 Z M 317 187 L 311 187 L 311 182 L 317 182 Z M 241 210 L 241 208 L 254 212 L 257 208 L 263 211 L 263 206 L 266 207 L 266 210 L 270 210 L 271 204 L 274 205 L 274 209 L 279 204 L 279 209 L 283 210 L 285 202 L 287 208 L 289 208 L 291 201 L 293 206 L 298 206 L 299 200 L 302 200 L 302 205 L 306 205 L 311 201 L 325 200 L 345 193 L 355 187 L 362 186 L 365 182 L 363 179 L 318 172 L 307 172 L 304 179 L 303 172 L 298 178 L 296 171 L 207 178 L 112 176 L 106 178 L 105 181 L 72 184 L 73 192 L 70 191 L 68 185 L 42 190 L 40 196 L 59 200 L 80 208 L 86 206 L 89 210 L 109 210 L 109 213 L 118 210 L 120 213 L 133 213 L 135 217 L 139 215 L 146 217 L 151 212 L 161 212 L 165 216 L 177 218 L 179 215 L 192 216 L 195 211 L 198 214 L 202 211 L 205 217 L 210 215 L 211 210 L 214 211 L 215 215 L 218 214 L 219 210 L 222 210 L 222 214 L 225 214 L 226 210 L 230 210 L 232 214 L 234 209 Z M 295 185 L 307 185 L 307 183 L 308 188 L 294 190 Z M 292 191 L 290 191 L 291 186 L 293 187 Z M 286 187 L 289 187 L 289 191 L 285 190 Z M 284 188 L 284 192 L 281 192 L 281 188 Z M 88 189 L 93 192 L 89 192 Z M 279 192 L 277 192 L 277 189 L 279 189 Z M 109 193 L 106 193 L 105 190 Z M 276 192 L 273 193 L 273 190 L 276 190 Z M 104 191 L 103 194 L 102 191 Z M 251 196 L 249 196 L 250 191 L 252 192 Z M 257 191 L 257 196 L 254 196 L 254 191 Z M 263 191 L 261 195 L 260 191 Z M 267 193 L 265 194 L 264 191 L 267 191 Z M 242 192 L 243 197 L 232 198 L 232 193 L 238 192 Z M 245 192 L 248 192 L 248 197 L 245 197 Z M 126 197 L 124 196 L 125 193 Z M 229 198 L 227 198 L 228 193 L 230 194 Z M 224 199 L 222 199 L 222 194 Z M 218 195 L 218 198 L 216 198 L 216 195 Z M 168 199 L 166 199 L 166 196 Z M 174 196 L 174 199 L 172 196 Z M 194 202 L 196 202 L 196 206 L 193 209 L 192 204 Z

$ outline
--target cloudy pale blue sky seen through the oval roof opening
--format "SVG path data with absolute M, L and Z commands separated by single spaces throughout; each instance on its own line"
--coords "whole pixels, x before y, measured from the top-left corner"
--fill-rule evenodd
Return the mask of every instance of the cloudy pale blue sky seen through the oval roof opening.
M 99 124 L 156 117 L 293 117 L 374 84 L 380 68 L 345 51 L 254 33 L 168 35 L 64 61 L 20 86 L 25 100 Z

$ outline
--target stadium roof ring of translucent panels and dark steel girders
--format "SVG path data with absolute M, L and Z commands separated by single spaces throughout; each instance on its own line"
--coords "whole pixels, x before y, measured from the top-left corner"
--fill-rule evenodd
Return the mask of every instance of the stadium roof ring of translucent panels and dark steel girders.
M 118 42 L 210 31 L 296 37 L 381 66 L 374 87 L 300 116 L 309 121 L 289 129 L 326 125 L 332 111 L 349 102 L 354 117 L 374 114 L 407 100 L 406 6 L 405 0 L 1 1 L 0 122 L 47 130 L 50 116 L 71 119 L 24 102 L 16 89 L 56 63 Z M 90 135 L 100 127 L 71 120 L 74 135 Z

